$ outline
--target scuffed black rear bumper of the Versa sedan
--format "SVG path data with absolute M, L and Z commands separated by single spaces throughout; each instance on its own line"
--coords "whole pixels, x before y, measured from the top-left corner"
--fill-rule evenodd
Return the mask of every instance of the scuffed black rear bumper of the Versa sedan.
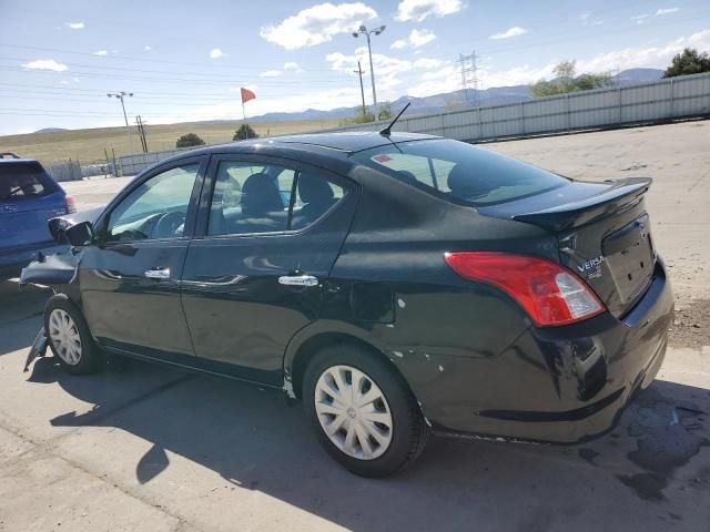
M 439 431 L 584 441 L 612 429 L 633 393 L 653 380 L 672 320 L 673 295 L 659 264 L 623 319 L 605 313 L 567 327 L 530 327 L 490 359 L 446 360 L 448 382 L 437 386 L 438 397 L 415 392 Z

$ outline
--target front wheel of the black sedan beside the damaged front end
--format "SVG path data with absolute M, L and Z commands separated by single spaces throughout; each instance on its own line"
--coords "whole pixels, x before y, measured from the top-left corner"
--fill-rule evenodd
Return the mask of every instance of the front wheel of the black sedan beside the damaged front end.
M 44 307 L 44 332 L 59 365 L 72 375 L 88 375 L 103 358 L 81 311 L 64 294 L 52 296 Z

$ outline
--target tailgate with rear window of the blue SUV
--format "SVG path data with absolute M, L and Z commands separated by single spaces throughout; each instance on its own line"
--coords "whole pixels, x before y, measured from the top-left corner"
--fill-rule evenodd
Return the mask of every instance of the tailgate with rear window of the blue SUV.
M 51 244 L 47 221 L 67 214 L 64 197 L 38 162 L 0 162 L 0 252 Z

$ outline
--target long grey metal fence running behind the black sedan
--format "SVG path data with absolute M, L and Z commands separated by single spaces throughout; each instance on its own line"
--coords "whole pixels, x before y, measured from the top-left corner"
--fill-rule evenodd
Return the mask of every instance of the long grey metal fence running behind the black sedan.
M 395 130 L 484 142 L 697 116 L 710 116 L 710 73 L 426 116 L 403 116 Z M 327 131 L 378 131 L 385 125 L 386 122 L 371 122 Z M 126 155 L 119 161 L 123 175 L 132 175 L 175 153 L 179 150 Z

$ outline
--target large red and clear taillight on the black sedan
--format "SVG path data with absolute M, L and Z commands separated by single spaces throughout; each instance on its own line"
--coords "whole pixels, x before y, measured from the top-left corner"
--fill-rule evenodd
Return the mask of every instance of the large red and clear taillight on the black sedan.
M 504 290 L 539 327 L 574 324 L 604 311 L 591 288 L 570 270 L 544 258 L 454 252 L 444 259 L 462 277 Z

